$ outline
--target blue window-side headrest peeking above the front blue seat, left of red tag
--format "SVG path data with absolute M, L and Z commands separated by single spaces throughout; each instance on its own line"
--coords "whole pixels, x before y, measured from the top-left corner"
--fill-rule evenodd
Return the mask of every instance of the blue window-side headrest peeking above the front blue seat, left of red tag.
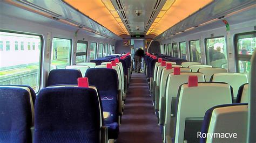
M 47 87 L 58 84 L 77 84 L 78 77 L 83 77 L 78 69 L 53 69 L 49 73 Z

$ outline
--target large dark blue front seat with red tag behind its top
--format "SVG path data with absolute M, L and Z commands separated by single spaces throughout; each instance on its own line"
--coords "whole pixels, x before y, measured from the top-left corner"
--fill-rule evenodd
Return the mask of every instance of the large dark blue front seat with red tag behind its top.
M 102 113 L 95 89 L 42 89 L 35 104 L 33 142 L 100 142 Z

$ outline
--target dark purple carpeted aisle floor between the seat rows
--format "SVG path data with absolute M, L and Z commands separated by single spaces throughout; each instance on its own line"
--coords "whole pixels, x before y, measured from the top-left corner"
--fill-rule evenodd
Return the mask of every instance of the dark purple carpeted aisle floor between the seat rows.
M 118 143 L 162 142 L 148 90 L 145 74 L 132 73 Z

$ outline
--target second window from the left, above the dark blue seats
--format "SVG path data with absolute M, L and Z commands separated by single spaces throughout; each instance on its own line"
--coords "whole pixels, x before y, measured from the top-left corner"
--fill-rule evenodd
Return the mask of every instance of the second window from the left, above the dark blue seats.
M 52 39 L 51 70 L 63 69 L 69 65 L 71 40 L 62 38 Z

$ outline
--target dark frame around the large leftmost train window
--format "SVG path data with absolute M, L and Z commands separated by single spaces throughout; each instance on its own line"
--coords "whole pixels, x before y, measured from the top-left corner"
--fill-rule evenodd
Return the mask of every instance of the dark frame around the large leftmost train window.
M 41 40 L 41 49 L 40 49 L 40 54 L 39 54 L 39 67 L 38 67 L 38 91 L 35 90 L 36 94 L 38 94 L 38 92 L 42 89 L 42 77 L 43 77 L 43 61 L 44 61 L 44 56 L 43 56 L 43 46 L 44 46 L 44 37 L 42 34 L 36 34 L 36 33 L 26 33 L 26 32 L 19 32 L 19 31 L 11 31 L 11 30 L 0 30 L 0 32 L 8 32 L 8 33 L 15 33 L 15 34 L 26 34 L 26 35 L 34 35 L 34 36 L 38 36 Z M 24 41 L 23 41 L 24 42 Z M 25 46 L 25 42 L 23 43 L 23 45 Z M 24 47 L 23 47 L 24 50 Z

